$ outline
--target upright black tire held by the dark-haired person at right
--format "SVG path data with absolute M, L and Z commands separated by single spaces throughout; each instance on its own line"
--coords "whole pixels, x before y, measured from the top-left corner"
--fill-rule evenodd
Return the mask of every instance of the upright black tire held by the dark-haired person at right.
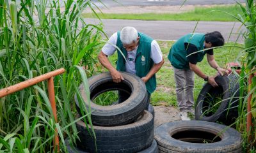
M 195 106 L 195 119 L 209 122 L 232 124 L 238 116 L 239 82 L 236 75 L 218 76 L 215 78 L 219 87 L 205 84 L 198 95 Z M 214 98 L 223 96 L 219 105 L 212 108 Z M 212 112 L 214 110 L 214 112 Z

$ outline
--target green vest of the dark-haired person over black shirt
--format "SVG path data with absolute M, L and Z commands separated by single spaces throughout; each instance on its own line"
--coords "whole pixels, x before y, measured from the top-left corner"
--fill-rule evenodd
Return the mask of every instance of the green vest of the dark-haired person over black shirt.
M 188 54 L 184 43 L 191 43 L 195 45 L 198 50 L 204 50 L 204 41 L 205 34 L 202 33 L 186 34 L 185 36 L 182 36 L 182 38 L 177 40 L 170 49 L 168 59 L 172 66 L 177 69 L 189 69 L 189 62 L 186 57 Z M 205 50 L 203 52 L 196 53 L 196 61 L 201 62 L 204 59 L 206 52 L 207 51 Z

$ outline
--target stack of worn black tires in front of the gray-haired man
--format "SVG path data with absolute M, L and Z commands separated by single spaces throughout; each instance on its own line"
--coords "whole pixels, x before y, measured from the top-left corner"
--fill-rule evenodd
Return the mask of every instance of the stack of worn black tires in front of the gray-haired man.
M 145 110 L 148 98 L 145 84 L 135 75 L 124 72 L 122 75 L 124 80 L 118 84 L 113 82 L 110 73 L 101 73 L 89 78 L 89 101 L 86 100 L 84 85 L 80 85 L 79 90 L 85 106 L 92 110 L 90 117 L 93 126 L 85 124 L 82 120 L 76 122 L 80 141 L 77 141 L 77 147 L 74 148 L 70 147 L 66 140 L 68 152 L 158 152 L 154 140 L 154 117 Z M 124 102 L 111 106 L 100 106 L 92 102 L 99 94 L 116 90 L 131 96 Z M 84 113 L 80 111 L 77 96 L 75 100 L 79 112 L 76 116 L 78 119 Z

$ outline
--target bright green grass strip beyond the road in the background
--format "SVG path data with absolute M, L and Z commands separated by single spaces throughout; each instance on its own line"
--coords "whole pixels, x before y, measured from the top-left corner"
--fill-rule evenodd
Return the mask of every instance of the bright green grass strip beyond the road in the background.
M 185 21 L 236 21 L 235 18 L 220 11 L 239 14 L 239 5 L 195 7 L 183 13 L 99 13 L 100 18 L 126 20 L 185 20 Z M 84 18 L 96 18 L 92 13 L 83 13 Z

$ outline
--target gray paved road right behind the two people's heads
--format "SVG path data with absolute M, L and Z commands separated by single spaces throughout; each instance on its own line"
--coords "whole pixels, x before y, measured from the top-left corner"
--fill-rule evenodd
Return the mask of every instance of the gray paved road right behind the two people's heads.
M 98 24 L 99 20 L 93 18 L 86 18 L 87 24 Z M 115 20 L 104 19 L 104 31 L 108 36 L 119 31 L 122 27 L 133 26 L 138 31 L 148 34 L 154 40 L 177 40 L 184 34 L 193 33 L 196 22 L 191 21 L 145 21 L 145 20 Z M 195 33 L 207 33 L 212 31 L 220 31 L 226 41 L 230 36 L 231 30 L 234 26 L 233 32 L 229 41 L 236 41 L 239 33 L 239 26 L 241 24 L 235 22 L 198 22 Z M 239 38 L 239 43 L 243 42 Z

